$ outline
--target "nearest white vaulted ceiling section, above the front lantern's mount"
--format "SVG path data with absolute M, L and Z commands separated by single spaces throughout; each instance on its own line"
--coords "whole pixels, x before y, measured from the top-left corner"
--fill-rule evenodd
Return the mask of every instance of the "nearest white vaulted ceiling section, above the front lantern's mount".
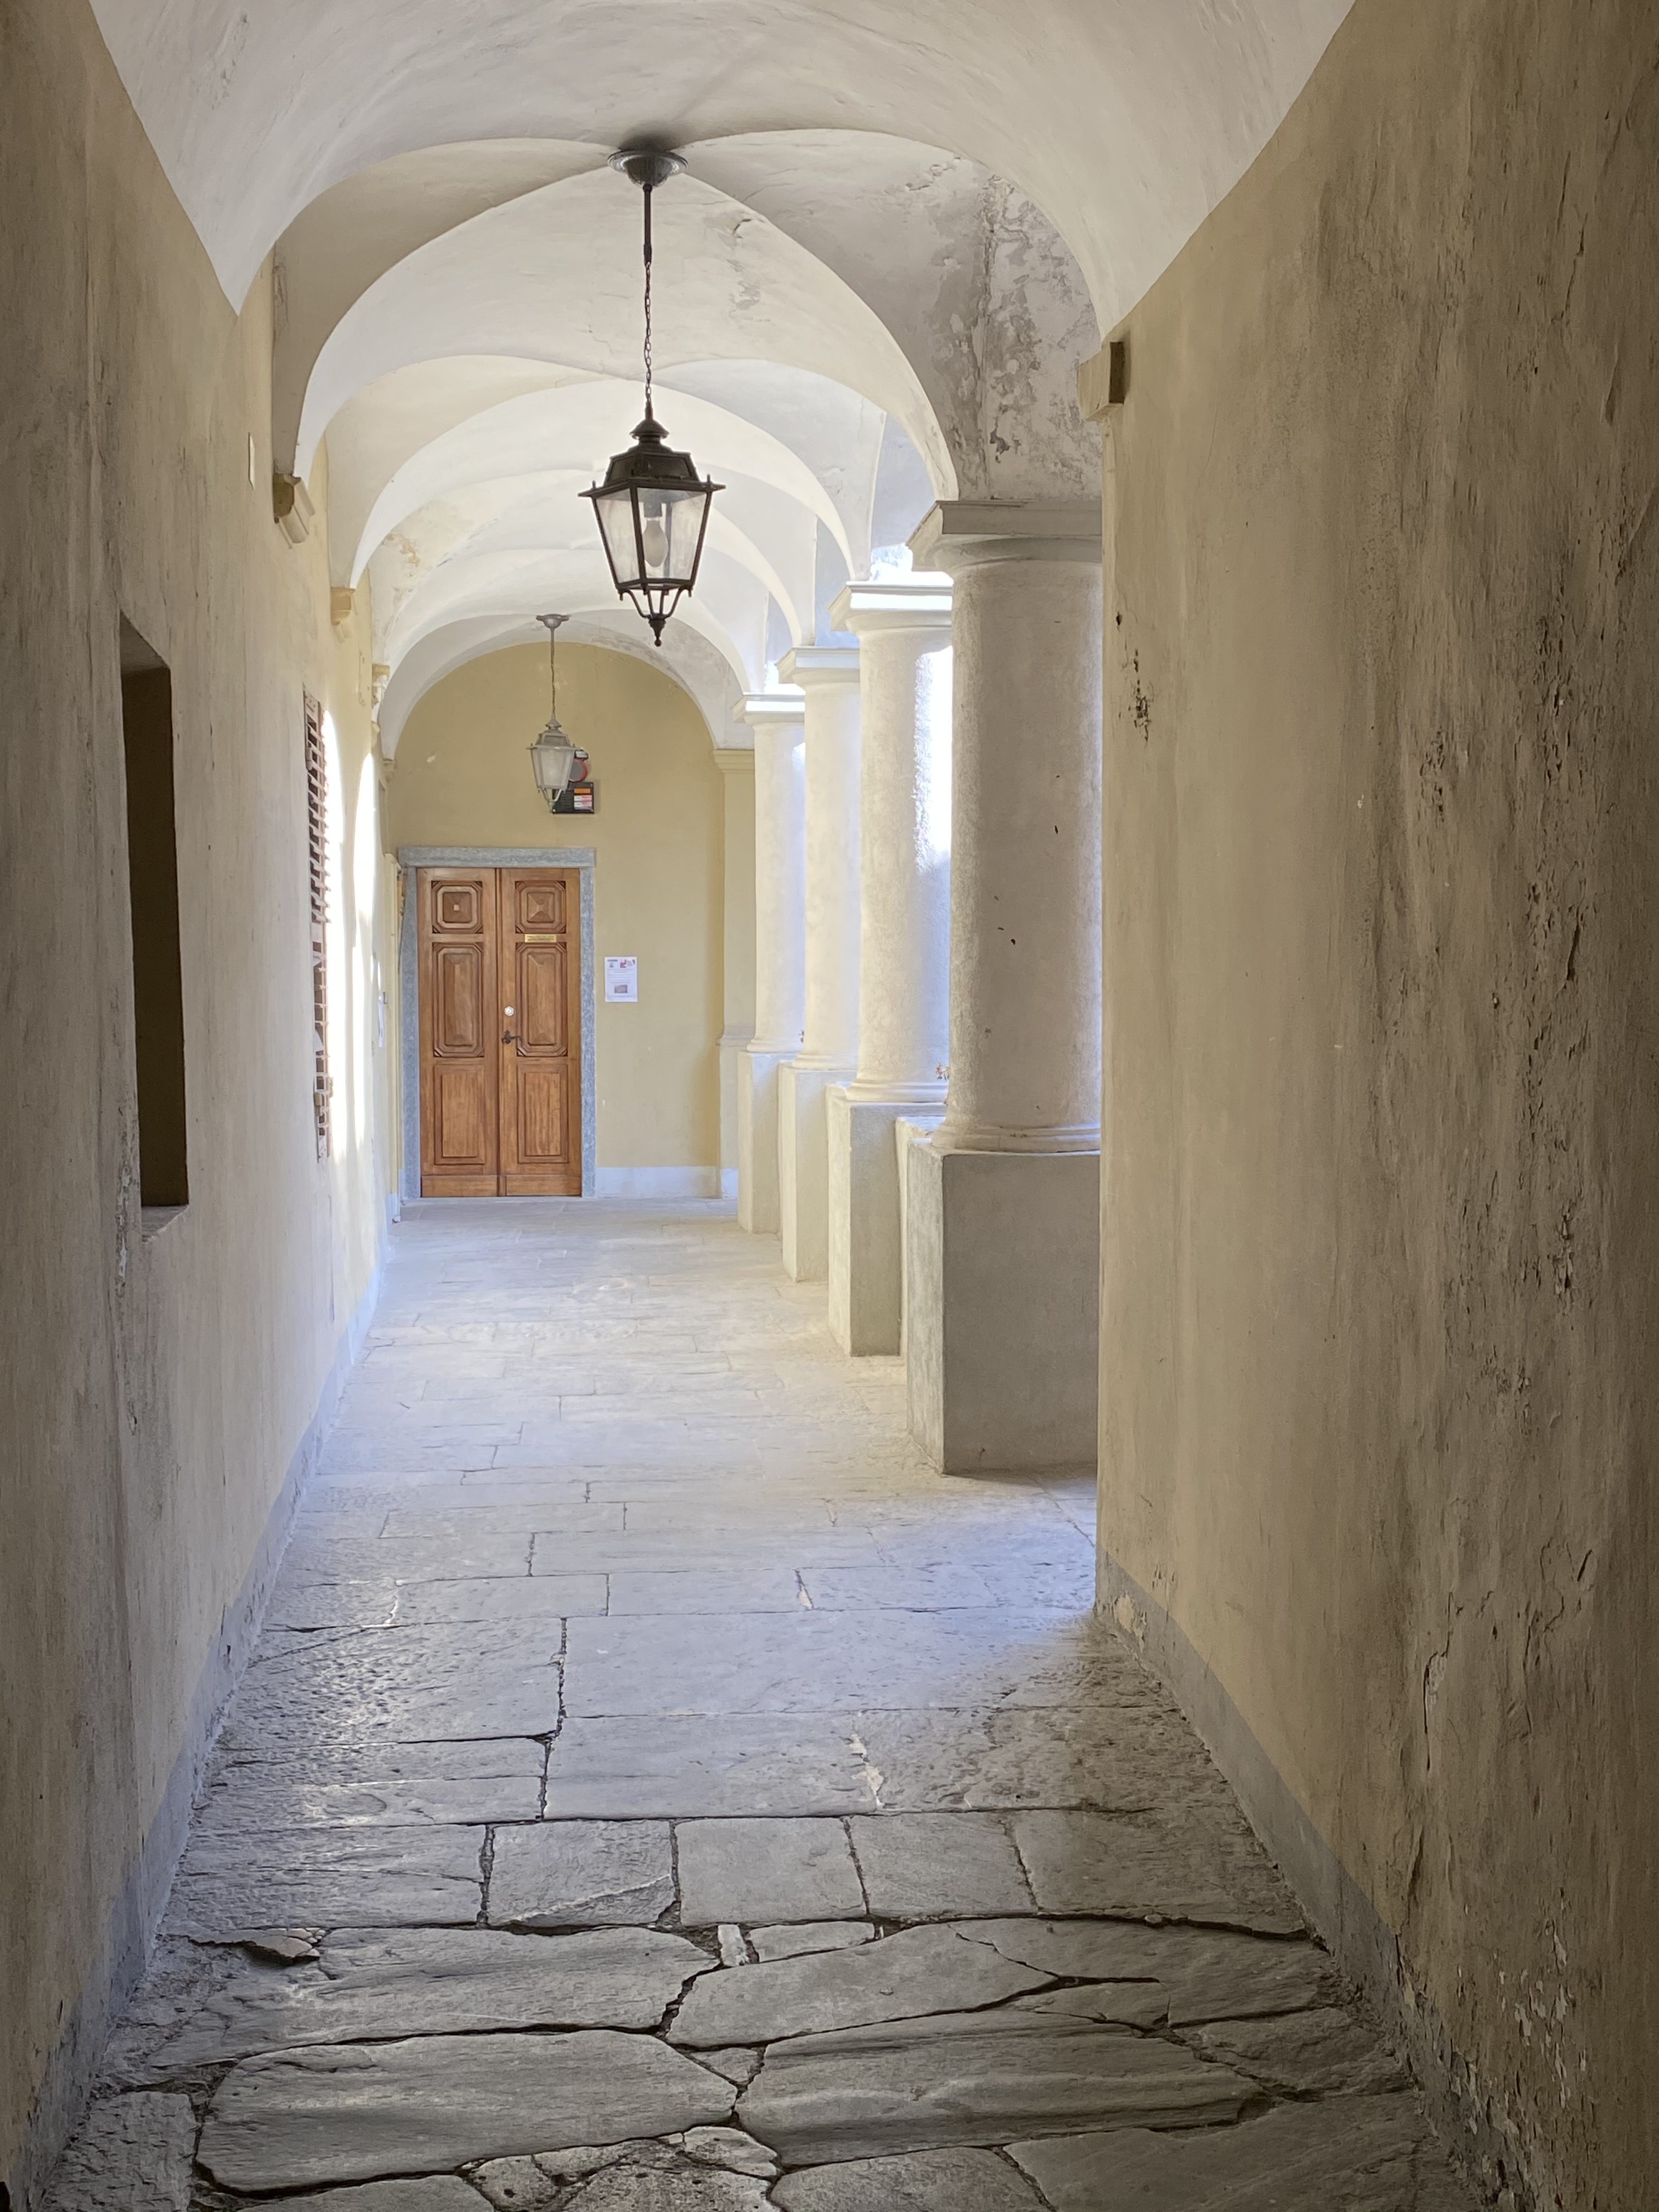
M 321 192 L 460 139 L 608 150 L 847 124 L 1029 195 L 1117 321 L 1243 175 L 1347 0 L 93 0 L 241 301 Z

